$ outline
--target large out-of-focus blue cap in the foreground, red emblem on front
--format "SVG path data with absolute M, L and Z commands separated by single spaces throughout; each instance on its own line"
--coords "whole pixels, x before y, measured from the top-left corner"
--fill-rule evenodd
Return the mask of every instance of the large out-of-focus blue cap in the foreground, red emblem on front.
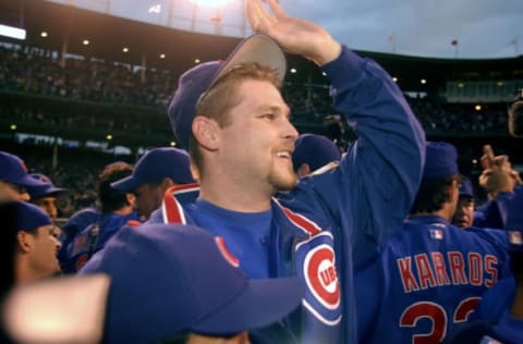
M 195 226 L 124 226 L 80 274 L 111 277 L 106 339 L 231 335 L 277 322 L 304 295 L 295 278 L 248 279 L 221 238 Z

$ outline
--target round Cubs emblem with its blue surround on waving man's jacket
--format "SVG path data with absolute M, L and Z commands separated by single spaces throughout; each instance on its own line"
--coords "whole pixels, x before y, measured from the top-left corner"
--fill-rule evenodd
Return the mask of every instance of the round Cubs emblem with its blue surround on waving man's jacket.
M 340 283 L 332 245 L 332 234 L 320 232 L 296 246 L 296 271 L 307 285 L 303 305 L 327 325 L 336 325 L 341 320 Z

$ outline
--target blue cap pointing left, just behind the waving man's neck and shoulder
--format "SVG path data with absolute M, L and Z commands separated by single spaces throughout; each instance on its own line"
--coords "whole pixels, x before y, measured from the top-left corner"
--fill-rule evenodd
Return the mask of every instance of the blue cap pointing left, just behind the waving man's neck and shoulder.
M 177 184 L 194 183 L 185 150 L 170 147 L 153 149 L 139 158 L 131 175 L 111 183 L 111 187 L 132 191 L 165 177 L 170 177 Z

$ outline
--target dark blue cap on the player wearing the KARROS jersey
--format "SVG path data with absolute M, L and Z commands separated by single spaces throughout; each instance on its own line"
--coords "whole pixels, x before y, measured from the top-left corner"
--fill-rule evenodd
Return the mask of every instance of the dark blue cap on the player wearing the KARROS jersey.
M 427 142 L 423 179 L 440 179 L 459 174 L 458 151 L 448 143 Z

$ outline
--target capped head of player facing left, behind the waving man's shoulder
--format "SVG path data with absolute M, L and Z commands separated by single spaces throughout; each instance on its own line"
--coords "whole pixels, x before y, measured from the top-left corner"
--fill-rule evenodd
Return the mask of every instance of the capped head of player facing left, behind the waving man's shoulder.
M 194 179 L 188 155 L 178 148 L 155 148 L 136 162 L 132 175 L 111 183 L 111 186 L 133 193 L 135 209 L 143 220 L 147 220 L 161 206 L 168 188 L 190 183 L 194 183 Z

